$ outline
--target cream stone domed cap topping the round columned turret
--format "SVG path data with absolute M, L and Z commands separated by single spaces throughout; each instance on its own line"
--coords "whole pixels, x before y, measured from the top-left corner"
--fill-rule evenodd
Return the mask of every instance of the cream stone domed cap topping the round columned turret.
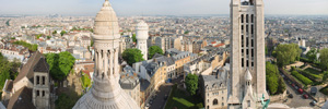
M 118 19 L 108 0 L 97 13 L 94 23 L 94 39 L 117 39 L 120 38 Z

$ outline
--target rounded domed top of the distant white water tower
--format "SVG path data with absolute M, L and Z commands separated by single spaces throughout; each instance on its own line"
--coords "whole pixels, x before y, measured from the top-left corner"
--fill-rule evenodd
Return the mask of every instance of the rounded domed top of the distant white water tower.
M 140 21 L 137 26 L 136 26 L 136 32 L 137 32 L 137 40 L 147 40 L 149 35 L 149 26 L 144 21 Z

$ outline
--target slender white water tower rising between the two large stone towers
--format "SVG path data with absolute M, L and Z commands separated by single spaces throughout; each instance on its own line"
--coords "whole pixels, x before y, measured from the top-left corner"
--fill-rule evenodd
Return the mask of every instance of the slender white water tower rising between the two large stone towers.
M 149 26 L 144 21 L 141 21 L 136 26 L 136 38 L 137 38 L 137 48 L 141 50 L 141 53 L 143 55 L 142 58 L 144 60 L 148 60 L 148 46 L 147 46 L 147 39 L 149 37 Z

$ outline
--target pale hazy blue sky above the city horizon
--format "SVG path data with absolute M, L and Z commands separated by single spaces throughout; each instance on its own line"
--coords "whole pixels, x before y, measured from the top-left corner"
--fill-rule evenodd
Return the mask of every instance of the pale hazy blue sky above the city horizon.
M 105 0 L 0 0 L 2 14 L 96 15 Z M 118 15 L 230 14 L 231 0 L 109 0 Z M 328 0 L 263 0 L 272 15 L 328 15 Z

